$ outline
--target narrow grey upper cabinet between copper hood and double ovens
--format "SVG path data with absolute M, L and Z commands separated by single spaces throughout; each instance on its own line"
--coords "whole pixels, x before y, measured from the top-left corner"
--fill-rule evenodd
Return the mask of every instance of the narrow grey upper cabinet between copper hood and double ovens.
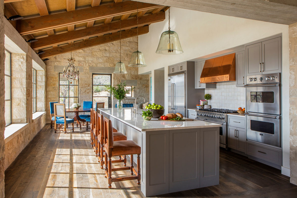
M 235 53 L 236 65 L 236 87 L 243 87 L 246 84 L 245 79 L 245 51 Z

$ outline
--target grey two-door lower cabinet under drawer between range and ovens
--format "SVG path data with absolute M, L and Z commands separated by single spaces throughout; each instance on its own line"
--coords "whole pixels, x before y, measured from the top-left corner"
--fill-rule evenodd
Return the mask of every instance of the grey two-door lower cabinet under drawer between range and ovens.
M 228 126 L 228 147 L 243 153 L 246 152 L 246 130 Z

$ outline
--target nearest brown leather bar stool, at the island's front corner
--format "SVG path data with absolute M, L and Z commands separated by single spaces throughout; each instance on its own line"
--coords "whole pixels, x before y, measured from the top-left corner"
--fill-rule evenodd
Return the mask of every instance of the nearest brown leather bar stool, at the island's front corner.
M 104 134 L 107 135 L 107 142 L 104 145 L 105 149 L 105 178 L 108 178 L 108 188 L 111 188 L 111 183 L 117 181 L 126 181 L 126 180 L 134 180 L 137 179 L 137 184 L 140 184 L 140 153 L 141 148 L 138 144 L 136 144 L 132 140 L 123 140 L 123 141 L 114 141 L 113 132 L 112 132 L 112 123 L 108 118 L 104 118 Z M 137 171 L 133 167 L 133 155 L 137 155 Z M 130 167 L 121 167 L 121 168 L 112 168 L 112 160 L 113 156 L 122 156 L 122 155 L 131 155 L 131 166 Z M 107 159 L 108 158 L 108 159 Z M 112 178 L 111 172 L 113 171 L 121 171 L 121 170 L 130 170 L 131 175 L 133 172 L 137 176 L 129 176 L 129 177 L 120 177 L 120 178 Z

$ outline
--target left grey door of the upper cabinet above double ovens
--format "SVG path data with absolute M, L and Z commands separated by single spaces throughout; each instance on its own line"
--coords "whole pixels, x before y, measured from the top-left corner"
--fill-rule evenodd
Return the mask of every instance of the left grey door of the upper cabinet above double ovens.
M 260 63 L 262 63 L 262 43 L 246 46 L 247 76 L 262 74 Z

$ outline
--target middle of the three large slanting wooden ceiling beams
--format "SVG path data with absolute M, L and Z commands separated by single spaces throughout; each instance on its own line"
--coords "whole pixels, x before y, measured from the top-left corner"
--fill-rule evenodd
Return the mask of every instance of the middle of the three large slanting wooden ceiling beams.
M 153 15 L 146 15 L 143 17 L 139 17 L 138 24 L 140 26 L 143 26 L 146 24 L 156 23 L 156 22 L 163 21 L 163 20 L 165 20 L 165 12 L 159 12 L 159 13 L 156 13 Z M 136 18 L 121 21 L 121 28 L 123 30 L 129 29 L 129 28 L 134 28 L 136 26 L 137 26 Z M 38 50 L 38 49 L 50 47 L 53 45 L 60 45 L 63 43 L 77 41 L 77 40 L 81 40 L 84 38 L 99 36 L 99 35 L 103 35 L 103 34 L 108 34 L 108 33 L 116 32 L 119 30 L 120 30 L 120 22 L 117 21 L 117 22 L 113 22 L 113 23 L 103 24 L 100 26 L 94 26 L 94 27 L 90 27 L 90 28 L 75 30 L 72 32 L 56 34 L 56 35 L 49 36 L 49 37 L 42 37 L 42 38 L 39 38 L 38 41 L 32 42 L 31 48 L 33 50 Z

